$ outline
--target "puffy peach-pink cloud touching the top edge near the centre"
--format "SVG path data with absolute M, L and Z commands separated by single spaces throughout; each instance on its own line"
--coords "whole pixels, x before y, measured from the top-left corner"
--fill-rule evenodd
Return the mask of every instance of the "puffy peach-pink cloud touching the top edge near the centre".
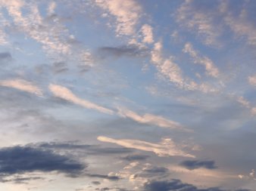
M 138 2 L 133 0 L 95 0 L 95 4 L 116 18 L 117 35 L 133 35 L 136 32 L 136 24 L 142 11 Z

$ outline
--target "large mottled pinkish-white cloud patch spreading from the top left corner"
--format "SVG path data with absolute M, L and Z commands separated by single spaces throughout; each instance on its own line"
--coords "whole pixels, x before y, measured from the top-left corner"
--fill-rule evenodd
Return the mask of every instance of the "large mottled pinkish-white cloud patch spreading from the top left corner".
M 39 5 L 38 2 L 0 0 L 0 6 L 6 8 L 13 20 L 13 23 L 10 24 L 14 25 L 19 32 L 23 32 L 24 35 L 42 45 L 42 49 L 52 60 L 70 59 L 80 65 L 92 66 L 92 59 L 86 62 L 84 57 L 85 54 L 89 54 L 89 51 L 81 47 L 80 51 L 77 51 L 76 45 L 70 43 L 75 39 L 74 36 L 70 34 L 60 17 L 56 15 L 52 17 L 58 5 L 55 2 L 50 2 L 46 17 L 42 17 L 42 14 L 40 14 Z M 26 14 L 23 14 L 23 11 L 26 11 Z

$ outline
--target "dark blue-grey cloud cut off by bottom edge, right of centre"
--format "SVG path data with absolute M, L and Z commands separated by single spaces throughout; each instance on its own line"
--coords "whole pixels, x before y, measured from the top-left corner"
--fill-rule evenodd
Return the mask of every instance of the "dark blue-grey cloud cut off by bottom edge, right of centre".
M 152 180 L 144 185 L 145 191 L 228 191 L 225 189 L 220 189 L 218 187 L 207 188 L 207 189 L 198 189 L 196 186 L 193 186 L 189 183 L 183 183 L 180 180 Z M 249 189 L 236 189 L 234 191 L 249 191 Z

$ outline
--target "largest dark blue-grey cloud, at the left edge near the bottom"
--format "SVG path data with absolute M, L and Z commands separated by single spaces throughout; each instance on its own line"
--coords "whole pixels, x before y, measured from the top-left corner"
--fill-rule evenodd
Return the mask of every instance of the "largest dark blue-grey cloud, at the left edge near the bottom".
M 86 165 L 50 150 L 30 146 L 14 146 L 0 149 L 0 174 L 24 174 L 33 171 L 58 171 L 70 177 L 83 172 Z

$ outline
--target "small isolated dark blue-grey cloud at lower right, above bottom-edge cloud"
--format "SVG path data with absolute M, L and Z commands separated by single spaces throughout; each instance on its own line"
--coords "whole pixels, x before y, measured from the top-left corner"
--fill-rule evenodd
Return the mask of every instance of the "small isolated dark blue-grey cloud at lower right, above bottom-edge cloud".
M 194 170 L 196 168 L 208 168 L 208 169 L 215 169 L 214 161 L 198 161 L 198 160 L 187 160 L 180 163 L 181 166 L 189 169 Z

